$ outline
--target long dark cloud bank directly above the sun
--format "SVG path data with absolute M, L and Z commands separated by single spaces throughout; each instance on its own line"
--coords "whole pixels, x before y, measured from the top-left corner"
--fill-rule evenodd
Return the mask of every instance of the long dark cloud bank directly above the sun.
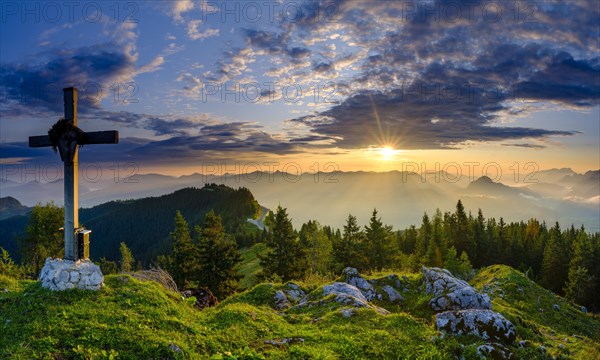
M 433 87 L 434 92 L 436 88 Z M 501 105 L 505 97 L 485 101 L 485 91 L 481 89 L 472 90 L 475 95 L 471 100 L 457 101 L 411 90 L 417 89 L 360 93 L 330 110 L 294 121 L 308 125 L 316 135 L 335 139 L 334 144 L 342 148 L 393 145 L 402 149 L 443 149 L 468 141 L 575 134 L 492 126 L 492 120 L 505 110 Z

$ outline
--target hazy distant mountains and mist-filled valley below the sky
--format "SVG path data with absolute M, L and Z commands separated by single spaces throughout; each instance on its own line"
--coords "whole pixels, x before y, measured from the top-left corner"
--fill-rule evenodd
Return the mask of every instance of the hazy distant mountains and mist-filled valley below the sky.
M 223 183 L 246 187 L 261 205 L 287 207 L 296 226 L 316 219 L 341 228 L 349 213 L 365 224 L 373 208 L 395 228 L 419 224 L 423 213 L 436 208 L 452 210 L 458 199 L 473 213 L 504 217 L 505 221 L 535 217 L 548 223 L 580 226 L 600 231 L 599 170 L 578 174 L 569 168 L 539 171 L 519 183 L 495 182 L 481 177 L 454 179 L 446 173 L 420 175 L 410 172 L 336 172 L 295 174 L 253 172 L 223 176 L 191 174 L 172 177 L 160 174 L 131 178 L 103 178 L 80 182 L 80 205 L 95 206 L 111 200 L 136 199 L 172 193 L 184 187 Z M 506 180 L 508 178 L 505 177 Z M 512 180 L 512 178 L 511 178 Z M 52 183 L 0 184 L 2 194 L 25 205 L 54 200 L 62 203 L 62 181 Z

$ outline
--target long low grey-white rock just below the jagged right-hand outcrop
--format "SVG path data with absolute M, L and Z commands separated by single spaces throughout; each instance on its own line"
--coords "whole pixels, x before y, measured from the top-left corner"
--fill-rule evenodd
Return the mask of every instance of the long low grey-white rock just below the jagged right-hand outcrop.
M 435 324 L 450 335 L 475 335 L 505 344 L 512 344 L 517 336 L 515 326 L 491 310 L 446 311 L 436 315 Z

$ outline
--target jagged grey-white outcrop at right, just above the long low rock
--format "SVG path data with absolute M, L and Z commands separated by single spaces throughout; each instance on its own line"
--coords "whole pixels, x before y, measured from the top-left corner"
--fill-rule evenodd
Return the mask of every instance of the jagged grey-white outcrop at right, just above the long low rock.
M 446 269 L 423 267 L 423 276 L 425 292 L 434 295 L 429 305 L 435 311 L 492 309 L 487 294 L 476 292 L 466 281 L 455 278 Z

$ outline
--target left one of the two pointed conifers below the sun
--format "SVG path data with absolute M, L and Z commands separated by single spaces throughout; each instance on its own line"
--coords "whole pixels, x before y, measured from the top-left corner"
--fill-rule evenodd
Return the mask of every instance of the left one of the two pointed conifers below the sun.
M 336 270 L 350 266 L 363 270 L 365 268 L 365 257 L 361 251 L 361 245 L 364 243 L 364 233 L 362 232 L 356 216 L 348 214 L 344 233 L 341 237 L 336 237 L 333 242 L 333 256 L 336 264 Z

